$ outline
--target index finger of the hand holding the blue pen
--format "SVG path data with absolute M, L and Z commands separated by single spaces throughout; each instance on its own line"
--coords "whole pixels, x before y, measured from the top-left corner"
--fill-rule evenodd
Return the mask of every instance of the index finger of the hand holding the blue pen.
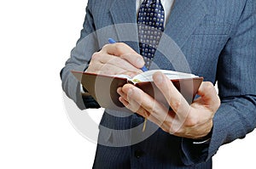
M 143 57 L 123 42 L 107 44 L 102 48 L 102 51 L 125 59 L 137 68 L 142 68 L 145 65 Z

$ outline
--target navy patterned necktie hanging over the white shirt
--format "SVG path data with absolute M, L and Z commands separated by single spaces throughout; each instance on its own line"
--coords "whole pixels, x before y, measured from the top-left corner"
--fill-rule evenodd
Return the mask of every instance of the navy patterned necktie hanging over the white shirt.
M 140 54 L 148 68 L 164 31 L 165 11 L 160 0 L 144 0 L 139 8 L 137 24 Z

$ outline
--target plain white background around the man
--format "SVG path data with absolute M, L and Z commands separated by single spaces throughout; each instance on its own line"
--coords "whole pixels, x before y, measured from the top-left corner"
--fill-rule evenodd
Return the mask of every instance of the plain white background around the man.
M 59 76 L 86 3 L 1 1 L 0 168 L 91 168 L 96 144 L 68 121 Z M 214 168 L 252 168 L 255 141 L 252 132 L 221 147 Z

